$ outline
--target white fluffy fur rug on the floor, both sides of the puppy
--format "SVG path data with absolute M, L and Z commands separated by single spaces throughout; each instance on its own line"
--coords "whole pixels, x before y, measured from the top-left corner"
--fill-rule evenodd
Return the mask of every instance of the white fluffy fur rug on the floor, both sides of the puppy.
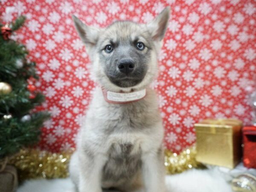
M 166 183 L 168 192 L 232 192 L 221 173 L 211 169 L 166 176 Z M 73 184 L 69 178 L 29 180 L 17 192 L 73 192 Z

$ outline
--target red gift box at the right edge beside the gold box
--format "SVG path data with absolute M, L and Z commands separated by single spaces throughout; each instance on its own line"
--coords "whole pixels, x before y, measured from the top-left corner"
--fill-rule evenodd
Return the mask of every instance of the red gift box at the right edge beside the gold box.
M 256 168 L 256 126 L 243 128 L 244 166 Z

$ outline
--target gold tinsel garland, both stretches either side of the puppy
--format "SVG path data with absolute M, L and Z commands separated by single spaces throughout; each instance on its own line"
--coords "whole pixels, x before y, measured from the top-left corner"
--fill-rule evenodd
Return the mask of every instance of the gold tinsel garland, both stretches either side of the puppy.
M 68 163 L 73 150 L 52 153 L 39 149 L 22 149 L 11 157 L 9 164 L 14 165 L 20 180 L 28 178 L 64 178 L 68 177 Z M 202 168 L 195 160 L 195 147 L 188 148 L 180 154 L 165 151 L 165 166 L 167 174 L 181 173 L 187 169 Z

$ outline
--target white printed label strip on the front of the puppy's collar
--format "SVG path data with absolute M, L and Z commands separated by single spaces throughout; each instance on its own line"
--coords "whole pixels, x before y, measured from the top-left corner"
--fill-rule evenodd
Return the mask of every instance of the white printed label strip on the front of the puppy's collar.
M 132 93 L 115 93 L 107 91 L 107 98 L 113 102 L 129 102 L 143 98 L 146 95 L 146 89 Z

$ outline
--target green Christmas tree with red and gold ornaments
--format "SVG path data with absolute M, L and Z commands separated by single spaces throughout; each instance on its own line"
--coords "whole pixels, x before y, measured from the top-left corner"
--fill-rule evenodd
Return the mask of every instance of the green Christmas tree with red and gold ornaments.
M 24 21 L 20 16 L 9 26 L 0 23 L 0 159 L 38 142 L 40 127 L 49 117 L 33 110 L 44 101 L 34 85 L 35 63 L 26 59 L 23 44 L 10 39 Z

